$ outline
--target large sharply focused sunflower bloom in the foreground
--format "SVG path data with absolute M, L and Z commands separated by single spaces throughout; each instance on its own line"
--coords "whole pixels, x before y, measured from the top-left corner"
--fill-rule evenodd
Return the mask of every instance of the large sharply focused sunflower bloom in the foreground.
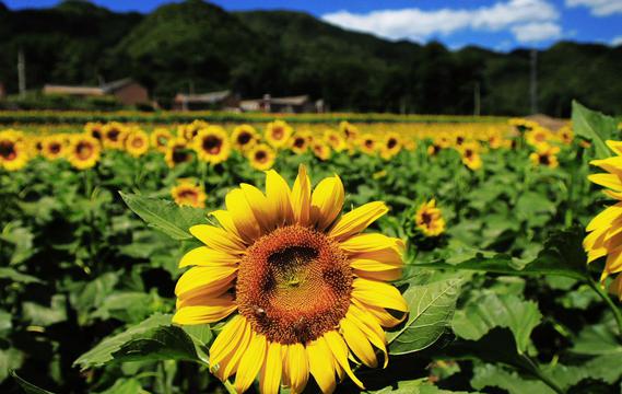
M 379 349 L 386 366 L 383 326 L 396 326 L 408 311 L 386 283 L 401 276 L 403 242 L 362 233 L 388 209 L 376 201 L 339 217 L 340 178 L 325 178 L 312 193 L 304 166 L 293 189 L 268 171 L 266 189 L 242 184 L 226 195 L 226 210 L 212 212 L 221 227 L 190 228 L 204 246 L 179 263 L 192 267 L 175 288 L 173 322 L 209 324 L 233 314 L 211 345 L 210 363 L 223 381 L 235 374 L 238 393 L 256 376 L 262 393 L 281 384 L 301 393 L 309 373 L 324 393 L 344 373 L 363 387 L 350 360 L 376 367 Z

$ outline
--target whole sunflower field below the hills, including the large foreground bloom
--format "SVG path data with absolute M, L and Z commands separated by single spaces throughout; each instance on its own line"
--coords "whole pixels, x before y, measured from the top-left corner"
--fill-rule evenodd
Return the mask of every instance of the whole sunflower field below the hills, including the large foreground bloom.
M 5 116 L 2 393 L 622 390 L 612 117 Z

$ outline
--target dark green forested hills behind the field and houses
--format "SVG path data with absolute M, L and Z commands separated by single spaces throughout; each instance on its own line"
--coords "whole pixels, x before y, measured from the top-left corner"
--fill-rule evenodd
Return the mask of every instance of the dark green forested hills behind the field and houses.
M 349 32 L 289 11 L 228 13 L 199 0 L 148 15 L 85 1 L 10 11 L 0 3 L 0 82 L 91 83 L 131 76 L 162 103 L 176 92 L 234 89 L 244 96 L 310 94 L 333 111 L 529 113 L 529 51 L 449 51 Z M 539 111 L 567 116 L 571 99 L 622 114 L 622 47 L 559 43 L 539 53 Z

